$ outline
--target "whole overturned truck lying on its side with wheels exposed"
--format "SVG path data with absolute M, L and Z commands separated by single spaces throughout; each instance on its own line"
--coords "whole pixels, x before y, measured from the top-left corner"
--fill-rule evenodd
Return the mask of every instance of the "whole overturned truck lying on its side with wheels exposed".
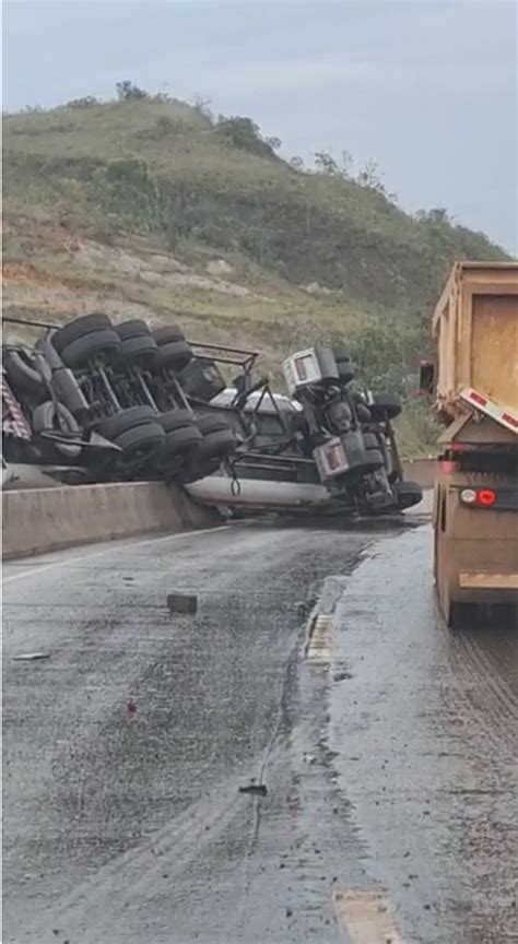
M 157 479 L 238 512 L 379 515 L 421 499 L 403 481 L 400 404 L 362 391 L 346 352 L 290 356 L 289 396 L 256 375 L 257 357 L 96 314 L 47 326 L 32 350 L 5 345 L 8 487 Z

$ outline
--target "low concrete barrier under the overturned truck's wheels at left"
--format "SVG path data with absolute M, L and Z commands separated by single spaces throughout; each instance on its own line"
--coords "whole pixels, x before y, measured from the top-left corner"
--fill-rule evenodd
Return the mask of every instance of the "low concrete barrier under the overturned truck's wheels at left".
M 133 534 L 176 533 L 221 520 L 181 488 L 151 482 L 4 492 L 2 517 L 4 558 Z

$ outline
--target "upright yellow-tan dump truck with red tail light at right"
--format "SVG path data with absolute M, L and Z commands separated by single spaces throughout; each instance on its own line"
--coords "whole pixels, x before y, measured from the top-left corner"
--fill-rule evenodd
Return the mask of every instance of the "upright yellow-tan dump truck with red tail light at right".
M 434 495 L 434 574 L 455 625 L 463 604 L 518 602 L 518 263 L 458 262 L 422 365 L 446 428 Z M 434 376 L 435 375 L 435 376 Z

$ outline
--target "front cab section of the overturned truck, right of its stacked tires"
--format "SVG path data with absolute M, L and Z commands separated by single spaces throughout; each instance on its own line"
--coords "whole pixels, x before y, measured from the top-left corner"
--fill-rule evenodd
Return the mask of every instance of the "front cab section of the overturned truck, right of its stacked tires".
M 193 497 L 242 510 L 346 516 L 400 512 L 421 500 L 421 487 L 403 482 L 396 398 L 354 389 L 349 355 L 325 345 L 292 354 L 283 371 L 287 397 L 247 368 L 208 400 L 239 446 L 213 475 L 187 486 Z

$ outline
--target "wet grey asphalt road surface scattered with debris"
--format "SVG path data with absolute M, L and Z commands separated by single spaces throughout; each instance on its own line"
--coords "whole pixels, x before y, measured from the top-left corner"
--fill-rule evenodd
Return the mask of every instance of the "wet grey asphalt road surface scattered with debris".
M 518 941 L 518 630 L 447 630 L 429 558 L 250 524 L 5 566 L 5 944 L 332 944 L 372 887 L 404 944 Z

